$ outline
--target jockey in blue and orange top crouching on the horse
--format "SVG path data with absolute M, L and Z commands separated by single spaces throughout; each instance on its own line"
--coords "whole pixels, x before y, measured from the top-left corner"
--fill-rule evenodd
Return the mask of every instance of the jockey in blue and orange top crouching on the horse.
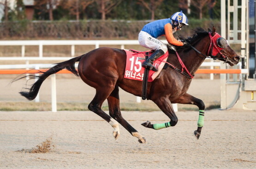
M 171 18 L 156 20 L 146 24 L 139 33 L 139 44 L 155 52 L 142 63 L 144 68 L 157 71 L 153 62 L 167 52 L 167 45 L 156 39 L 165 35 L 169 44 L 176 46 L 190 46 L 188 42 L 181 42 L 173 37 L 173 33 L 188 25 L 188 19 L 182 11 L 176 12 Z

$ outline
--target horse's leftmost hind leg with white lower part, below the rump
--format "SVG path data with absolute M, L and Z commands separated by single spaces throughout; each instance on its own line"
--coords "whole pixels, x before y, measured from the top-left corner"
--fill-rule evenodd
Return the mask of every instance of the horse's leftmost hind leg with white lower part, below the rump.
M 101 118 L 106 120 L 114 128 L 113 134 L 114 134 L 114 137 L 116 138 L 116 135 L 119 135 L 120 133 L 118 122 L 115 119 L 111 118 L 107 113 L 105 113 L 101 109 L 102 103 L 107 99 L 107 97 L 109 96 L 112 90 L 113 90 L 113 87 L 106 88 L 106 86 L 105 88 L 96 89 L 96 95 L 88 105 L 88 108 L 90 111 L 101 116 Z

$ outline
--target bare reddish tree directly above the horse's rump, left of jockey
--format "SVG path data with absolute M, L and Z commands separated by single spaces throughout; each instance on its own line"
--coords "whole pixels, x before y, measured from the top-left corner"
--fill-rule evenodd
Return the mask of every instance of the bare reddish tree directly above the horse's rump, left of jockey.
M 106 14 L 120 4 L 122 0 L 95 0 L 98 4 L 98 11 L 101 13 L 101 19 L 106 19 Z

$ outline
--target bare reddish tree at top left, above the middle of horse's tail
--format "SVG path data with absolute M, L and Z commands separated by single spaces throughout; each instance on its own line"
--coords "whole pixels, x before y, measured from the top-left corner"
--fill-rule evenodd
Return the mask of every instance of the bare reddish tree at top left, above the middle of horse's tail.
M 51 21 L 54 20 L 53 16 L 53 10 L 58 5 L 59 0 L 35 0 L 35 6 L 37 9 L 39 9 L 41 12 L 48 12 L 49 13 L 49 19 Z

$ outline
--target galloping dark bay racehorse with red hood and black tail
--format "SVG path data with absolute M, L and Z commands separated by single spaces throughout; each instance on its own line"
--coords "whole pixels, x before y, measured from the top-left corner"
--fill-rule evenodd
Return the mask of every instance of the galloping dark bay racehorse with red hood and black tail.
M 215 33 L 214 27 L 213 30 L 208 29 L 208 32 L 202 28 L 196 28 L 193 37 L 185 40 L 191 44 L 191 47 L 178 48 L 177 52 L 188 73 L 192 75 L 208 56 L 224 61 L 230 66 L 239 62 L 240 56 L 227 45 L 224 38 Z M 167 62 L 179 68 L 180 63 L 175 52 L 171 49 L 168 49 L 168 51 Z M 79 62 L 78 71 L 75 69 L 75 62 Z M 89 103 L 88 108 L 111 124 L 114 128 L 113 136 L 115 139 L 120 134 L 119 124 L 121 124 L 131 135 L 137 137 L 140 143 L 146 143 L 146 139 L 122 117 L 120 112 L 119 87 L 135 96 L 142 96 L 142 81 L 124 78 L 125 62 L 126 53 L 124 50 L 101 47 L 68 61 L 55 63 L 54 67 L 45 72 L 40 72 L 40 75 L 30 74 L 30 78 L 37 78 L 38 80 L 31 86 L 29 92 L 22 91 L 20 94 L 28 100 L 35 99 L 42 82 L 49 75 L 66 68 L 76 76 L 80 76 L 86 84 L 96 89 L 95 97 Z M 168 124 L 165 123 L 166 127 L 175 126 L 178 122 L 171 103 L 196 105 L 200 110 L 199 114 L 204 116 L 205 106 L 203 101 L 186 93 L 190 84 L 190 77 L 171 67 L 163 69 L 153 82 L 149 82 L 147 99 L 154 101 L 161 111 L 170 118 L 170 122 Z M 109 115 L 101 109 L 102 103 L 106 99 Z M 142 125 L 154 129 L 154 124 L 149 121 Z M 202 125 L 198 125 L 197 130 L 194 132 L 197 139 L 201 134 L 201 130 Z

